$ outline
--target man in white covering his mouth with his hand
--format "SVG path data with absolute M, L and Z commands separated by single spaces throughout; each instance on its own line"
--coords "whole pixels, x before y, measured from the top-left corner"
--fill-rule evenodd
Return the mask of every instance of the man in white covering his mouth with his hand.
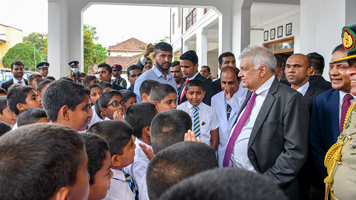
M 240 70 L 235 66 L 223 68 L 220 74 L 223 91 L 212 97 L 212 108 L 214 108 L 219 122 L 219 146 L 217 149 L 219 167 L 222 167 L 231 128 L 238 117 L 248 91 L 247 88 L 240 85 L 239 72 Z

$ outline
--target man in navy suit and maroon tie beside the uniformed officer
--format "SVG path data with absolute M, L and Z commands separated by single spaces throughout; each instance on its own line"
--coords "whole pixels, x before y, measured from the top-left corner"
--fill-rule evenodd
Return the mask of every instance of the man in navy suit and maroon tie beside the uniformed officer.
M 331 62 L 347 56 L 342 45 L 337 46 L 332 52 Z M 313 114 L 310 125 L 310 144 L 316 169 L 324 179 L 328 176 L 324 166 L 324 157 L 330 147 L 335 144 L 340 135 L 345 116 L 342 115 L 343 103 L 351 95 L 350 77 L 346 71 L 348 63 L 330 64 L 329 77 L 333 89 L 323 92 L 314 99 Z M 354 98 L 354 96 L 349 96 Z

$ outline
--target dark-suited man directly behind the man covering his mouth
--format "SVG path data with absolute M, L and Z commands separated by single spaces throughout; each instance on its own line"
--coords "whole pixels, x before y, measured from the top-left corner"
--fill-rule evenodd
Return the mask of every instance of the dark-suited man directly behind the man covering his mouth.
M 225 68 L 225 66 L 236 66 L 235 55 L 228 51 L 219 55 L 220 72 L 223 68 Z M 222 91 L 220 78 L 213 80 L 212 83 L 214 88 L 214 95 Z

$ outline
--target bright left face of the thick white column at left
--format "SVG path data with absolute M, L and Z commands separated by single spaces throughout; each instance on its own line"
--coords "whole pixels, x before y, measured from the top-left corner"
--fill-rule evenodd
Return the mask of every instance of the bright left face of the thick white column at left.
M 68 75 L 68 0 L 48 1 L 49 75 L 56 79 Z

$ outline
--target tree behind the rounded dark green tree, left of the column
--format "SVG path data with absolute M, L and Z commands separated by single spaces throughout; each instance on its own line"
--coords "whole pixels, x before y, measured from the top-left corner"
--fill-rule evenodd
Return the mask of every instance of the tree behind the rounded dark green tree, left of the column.
M 36 50 L 40 52 L 42 58 L 47 61 L 47 34 L 43 32 L 32 32 L 28 36 L 23 37 L 23 44 L 35 46 Z

